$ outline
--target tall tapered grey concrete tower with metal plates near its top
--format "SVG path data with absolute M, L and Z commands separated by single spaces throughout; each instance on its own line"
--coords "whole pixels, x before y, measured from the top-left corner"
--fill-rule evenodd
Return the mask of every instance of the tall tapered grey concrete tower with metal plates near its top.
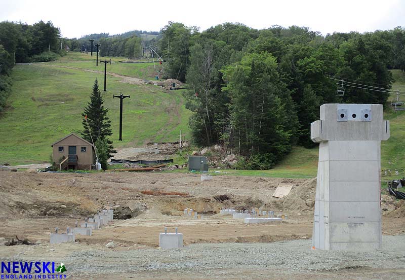
M 381 248 L 380 144 L 389 138 L 381 104 L 323 104 L 311 123 L 319 143 L 312 246 Z

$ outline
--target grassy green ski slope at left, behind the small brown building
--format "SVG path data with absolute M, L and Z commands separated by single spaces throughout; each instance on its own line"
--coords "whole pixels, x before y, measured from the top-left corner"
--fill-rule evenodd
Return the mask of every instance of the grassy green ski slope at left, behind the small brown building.
M 79 53 L 71 56 L 78 61 L 91 59 L 90 55 Z M 83 129 L 81 113 L 90 99 L 96 78 L 103 88 L 104 74 L 52 64 L 77 66 L 76 63 L 32 63 L 14 67 L 13 92 L 9 98 L 11 108 L 0 117 L 1 163 L 48 162 L 51 144 L 70 132 Z M 97 67 L 93 67 L 92 62 L 77 64 L 83 64 L 77 66 L 79 68 Z M 120 65 L 116 62 L 109 66 L 108 72 L 118 69 L 126 76 L 154 77 L 153 63 Z M 103 71 L 103 66 L 98 67 L 97 70 Z M 177 141 L 180 129 L 187 137 L 190 112 L 184 107 L 180 90 L 167 92 L 153 85 L 120 81 L 120 78 L 107 76 L 107 92 L 103 93 L 104 104 L 110 110 L 114 147 Z M 124 100 L 123 142 L 117 141 L 119 100 L 112 98 L 113 94 L 120 92 L 131 95 L 130 99 Z

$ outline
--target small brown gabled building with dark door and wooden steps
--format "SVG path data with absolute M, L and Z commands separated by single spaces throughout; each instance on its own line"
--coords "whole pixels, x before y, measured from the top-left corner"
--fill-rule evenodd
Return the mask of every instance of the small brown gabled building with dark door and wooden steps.
M 53 161 L 61 170 L 96 169 L 96 153 L 93 144 L 74 133 L 52 144 Z

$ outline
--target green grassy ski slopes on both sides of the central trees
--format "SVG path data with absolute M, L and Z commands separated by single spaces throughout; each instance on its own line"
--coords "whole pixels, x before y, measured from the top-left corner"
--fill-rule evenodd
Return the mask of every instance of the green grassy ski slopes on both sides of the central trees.
M 109 58 L 106 58 L 109 60 Z M 107 72 L 152 80 L 161 65 L 153 63 L 120 63 L 113 58 Z M 65 67 L 74 68 L 65 68 Z M 103 87 L 104 65 L 95 65 L 95 57 L 68 53 L 57 62 L 16 65 L 13 69 L 11 108 L 0 117 L 0 163 L 26 164 L 47 162 L 50 145 L 70 132 L 82 130 L 80 114 L 89 101 L 94 80 Z M 84 71 L 87 70 L 87 71 Z M 90 72 L 90 71 L 94 72 Z M 393 89 L 405 91 L 405 74 L 393 70 Z M 131 95 L 124 100 L 123 142 L 118 142 L 119 101 L 113 94 Z M 190 112 L 185 109 L 181 91 L 164 91 L 157 86 L 134 85 L 120 78 L 107 77 L 105 106 L 110 109 L 115 147 L 133 147 L 146 142 L 177 141 L 180 129 L 189 135 Z M 402 96 L 401 96 L 402 97 Z M 387 102 L 384 119 L 390 120 L 391 137 L 381 143 L 381 168 L 405 168 L 405 112 L 395 112 Z M 405 100 L 404 98 L 401 98 Z M 229 173 L 256 176 L 316 176 L 318 149 L 294 147 L 274 169 L 266 171 L 235 171 Z

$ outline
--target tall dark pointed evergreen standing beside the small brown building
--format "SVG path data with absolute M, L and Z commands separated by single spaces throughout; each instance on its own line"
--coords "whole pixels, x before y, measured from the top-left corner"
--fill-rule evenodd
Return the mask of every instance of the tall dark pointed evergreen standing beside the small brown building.
M 108 109 L 105 109 L 103 106 L 104 100 L 101 96 L 100 89 L 98 88 L 97 79 L 93 85 L 93 93 L 90 95 L 90 102 L 85 107 L 85 111 L 82 113 L 84 117 L 82 123 L 85 130 L 82 132 L 82 136 L 87 141 L 91 142 L 91 136 L 93 136 L 93 141 L 96 144 L 96 148 L 100 148 L 100 150 L 105 150 L 107 159 L 112 157 L 113 153 L 116 153 L 114 147 L 112 147 L 112 141 L 110 141 L 107 136 L 112 134 L 112 130 L 110 128 L 111 121 L 107 117 Z M 85 117 L 87 115 L 87 122 L 86 123 Z M 90 131 L 89 131 L 90 127 Z M 91 132 L 91 136 L 90 136 Z M 97 147 L 97 143 L 102 143 L 105 147 Z M 105 162 L 106 162 L 105 160 Z M 103 169 L 106 166 L 102 166 Z

